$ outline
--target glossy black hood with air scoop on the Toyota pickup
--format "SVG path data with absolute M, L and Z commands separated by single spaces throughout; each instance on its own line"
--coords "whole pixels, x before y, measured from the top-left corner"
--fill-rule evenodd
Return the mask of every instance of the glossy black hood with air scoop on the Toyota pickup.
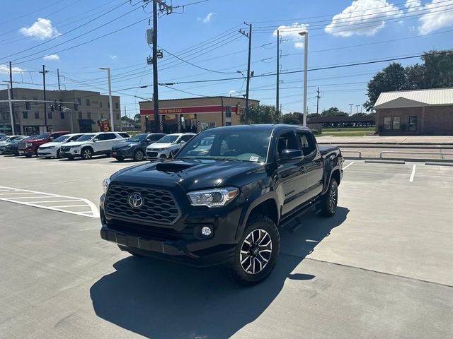
M 113 182 L 165 186 L 179 184 L 185 191 L 223 186 L 228 179 L 263 169 L 256 162 L 224 160 L 164 160 L 121 169 L 111 177 Z M 171 185 L 170 185 L 171 186 Z

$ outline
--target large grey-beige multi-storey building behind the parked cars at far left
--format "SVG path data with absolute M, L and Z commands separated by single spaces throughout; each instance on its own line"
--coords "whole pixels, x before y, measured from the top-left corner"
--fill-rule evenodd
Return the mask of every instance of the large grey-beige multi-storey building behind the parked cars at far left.
M 13 112 L 16 134 L 32 135 L 45 131 L 97 132 L 98 121 L 109 119 L 108 95 L 87 90 L 42 90 L 13 88 Z M 0 100 L 8 100 L 7 90 L 0 90 Z M 52 102 L 56 102 L 54 105 Z M 113 96 L 113 121 L 115 131 L 120 130 L 120 97 Z M 46 117 L 44 115 L 46 105 Z M 67 109 L 59 109 L 60 105 Z M 53 110 L 52 110 L 53 107 Z M 8 102 L 0 102 L 0 133 L 11 133 Z

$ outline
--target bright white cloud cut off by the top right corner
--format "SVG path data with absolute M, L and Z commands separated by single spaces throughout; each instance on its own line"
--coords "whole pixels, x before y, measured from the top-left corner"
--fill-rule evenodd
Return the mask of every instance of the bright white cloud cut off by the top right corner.
M 418 22 L 420 23 L 418 32 L 425 35 L 439 28 L 453 25 L 452 10 L 453 0 L 432 0 L 423 7 L 423 15 L 418 18 Z

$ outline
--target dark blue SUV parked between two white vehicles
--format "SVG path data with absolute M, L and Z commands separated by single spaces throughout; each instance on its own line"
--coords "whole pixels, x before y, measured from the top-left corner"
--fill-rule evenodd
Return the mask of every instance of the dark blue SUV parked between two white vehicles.
M 140 133 L 125 142 L 116 143 L 110 150 L 110 156 L 118 161 L 127 158 L 141 161 L 145 157 L 148 145 L 155 143 L 160 138 L 165 136 L 164 133 Z

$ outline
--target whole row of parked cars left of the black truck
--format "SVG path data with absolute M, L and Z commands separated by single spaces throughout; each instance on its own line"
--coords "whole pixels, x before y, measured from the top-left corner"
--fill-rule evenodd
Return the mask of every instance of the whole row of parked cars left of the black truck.
M 110 155 L 118 161 L 152 161 L 175 155 L 193 136 L 195 133 L 140 133 L 131 138 L 125 132 L 52 131 L 38 136 L 0 136 L 0 153 L 83 160 Z

